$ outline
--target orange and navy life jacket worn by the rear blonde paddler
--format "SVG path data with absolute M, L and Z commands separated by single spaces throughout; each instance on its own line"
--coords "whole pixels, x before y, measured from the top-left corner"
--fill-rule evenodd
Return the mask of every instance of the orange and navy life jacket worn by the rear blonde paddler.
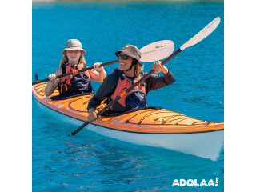
M 78 65 L 70 63 L 62 64 L 62 74 L 70 73 L 70 71 L 73 70 L 82 70 L 82 66 L 83 63 Z M 60 96 L 93 92 L 88 70 L 61 78 L 61 82 L 58 85 L 58 91 Z

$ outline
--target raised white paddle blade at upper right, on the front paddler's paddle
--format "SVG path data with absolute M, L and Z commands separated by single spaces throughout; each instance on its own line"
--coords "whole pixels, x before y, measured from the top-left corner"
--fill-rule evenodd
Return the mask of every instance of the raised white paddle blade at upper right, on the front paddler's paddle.
M 221 22 L 221 18 L 215 18 L 212 22 L 210 22 L 205 28 L 198 32 L 198 34 L 194 35 L 193 38 L 190 38 L 188 42 L 183 44 L 180 50 L 185 50 L 187 47 L 194 46 L 198 42 L 201 42 L 202 39 L 206 38 L 209 34 L 211 34 Z

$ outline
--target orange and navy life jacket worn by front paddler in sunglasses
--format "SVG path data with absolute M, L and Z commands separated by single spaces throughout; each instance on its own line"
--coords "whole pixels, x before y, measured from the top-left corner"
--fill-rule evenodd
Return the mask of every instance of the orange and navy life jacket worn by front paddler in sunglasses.
M 126 75 L 122 74 L 121 71 L 118 71 L 118 86 L 114 90 L 114 94 L 111 95 L 111 99 L 114 100 L 118 95 L 122 94 L 123 91 L 126 91 L 130 86 L 135 82 L 138 82 L 141 77 L 135 78 L 134 81 L 126 78 Z M 121 76 L 121 75 L 122 76 Z M 120 77 L 121 76 L 121 77 Z M 125 94 L 122 98 L 118 100 L 118 103 L 126 107 L 127 110 L 135 110 L 143 107 L 147 107 L 146 103 L 146 86 L 141 83 L 138 86 L 135 86 L 133 90 L 130 90 L 128 94 Z M 113 110 L 110 107 L 110 110 Z

